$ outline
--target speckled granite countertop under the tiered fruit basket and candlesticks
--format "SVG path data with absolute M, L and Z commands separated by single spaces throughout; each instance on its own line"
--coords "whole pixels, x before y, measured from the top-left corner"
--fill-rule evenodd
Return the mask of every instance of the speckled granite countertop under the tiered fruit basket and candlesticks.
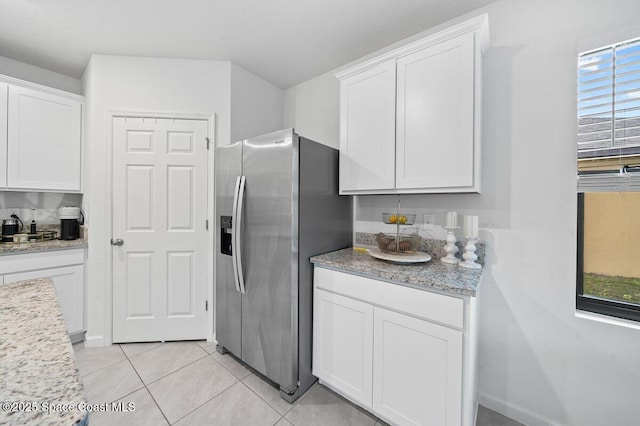
M 482 269 L 465 269 L 440 262 L 432 256 L 426 263 L 397 264 L 371 257 L 353 248 L 311 258 L 316 266 L 374 278 L 422 290 L 436 290 L 457 295 L 476 296 Z

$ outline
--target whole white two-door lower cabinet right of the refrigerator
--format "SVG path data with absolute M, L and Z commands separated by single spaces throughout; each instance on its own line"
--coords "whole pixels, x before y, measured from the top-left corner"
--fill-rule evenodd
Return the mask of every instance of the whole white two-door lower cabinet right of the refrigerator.
M 474 298 L 314 271 L 313 374 L 321 383 L 391 424 L 473 425 Z

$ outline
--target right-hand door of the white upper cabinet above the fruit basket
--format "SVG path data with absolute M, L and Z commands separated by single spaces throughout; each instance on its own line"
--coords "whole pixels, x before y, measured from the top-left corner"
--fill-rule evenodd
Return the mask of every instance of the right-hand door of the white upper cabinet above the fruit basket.
M 474 188 L 474 33 L 398 59 L 398 189 Z

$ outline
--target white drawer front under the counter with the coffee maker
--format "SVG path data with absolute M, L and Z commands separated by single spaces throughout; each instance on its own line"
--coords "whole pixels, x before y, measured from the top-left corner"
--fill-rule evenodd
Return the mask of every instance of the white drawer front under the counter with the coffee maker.
M 0 273 L 12 274 L 83 263 L 84 249 L 5 255 L 0 261 Z

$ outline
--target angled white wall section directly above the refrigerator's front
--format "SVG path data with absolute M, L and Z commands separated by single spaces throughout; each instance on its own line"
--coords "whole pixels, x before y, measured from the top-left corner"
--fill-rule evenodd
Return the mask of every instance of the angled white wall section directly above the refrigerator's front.
M 283 92 L 231 64 L 231 142 L 282 128 Z

